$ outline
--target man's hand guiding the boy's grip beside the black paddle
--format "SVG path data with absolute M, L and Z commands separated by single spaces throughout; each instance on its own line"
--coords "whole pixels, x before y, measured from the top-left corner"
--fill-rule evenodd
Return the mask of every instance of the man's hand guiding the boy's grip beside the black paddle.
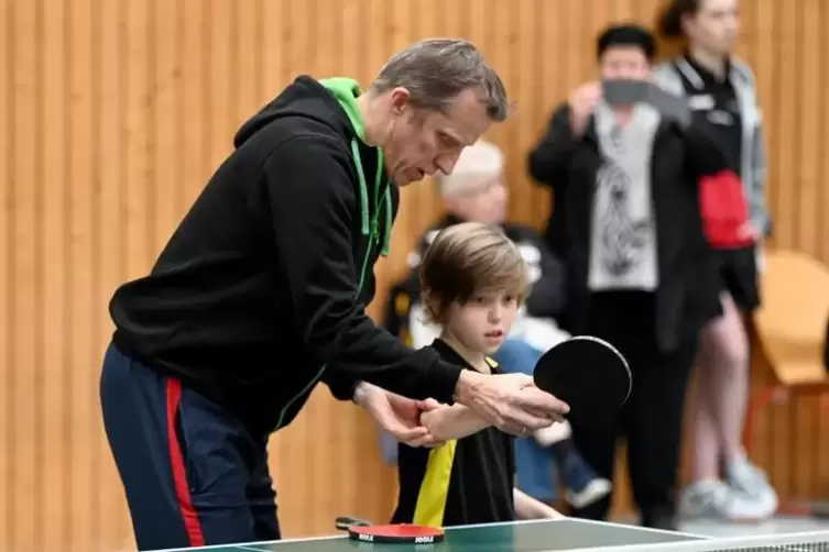
M 542 391 L 525 374 L 484 375 L 465 369 L 458 378 L 456 401 L 510 433 L 548 428 L 564 421 L 570 407 Z

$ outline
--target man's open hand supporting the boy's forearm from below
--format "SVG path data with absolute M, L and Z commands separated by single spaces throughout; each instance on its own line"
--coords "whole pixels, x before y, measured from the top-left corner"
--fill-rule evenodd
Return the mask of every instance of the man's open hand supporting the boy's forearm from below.
M 436 446 L 429 430 L 421 424 L 421 413 L 439 407 L 436 400 L 412 400 L 371 384 L 361 383 L 354 402 L 369 411 L 385 431 L 410 446 Z

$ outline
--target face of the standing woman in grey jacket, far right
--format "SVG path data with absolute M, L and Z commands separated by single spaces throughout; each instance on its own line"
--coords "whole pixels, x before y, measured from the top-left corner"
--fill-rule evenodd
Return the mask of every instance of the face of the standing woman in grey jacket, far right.
M 700 48 L 729 55 L 740 32 L 740 1 L 702 0 L 697 14 L 685 20 L 685 32 Z

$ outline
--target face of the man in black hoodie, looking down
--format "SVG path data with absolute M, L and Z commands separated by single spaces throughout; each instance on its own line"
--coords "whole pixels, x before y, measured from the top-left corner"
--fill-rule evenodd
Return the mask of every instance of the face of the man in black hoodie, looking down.
M 389 140 L 383 145 L 385 166 L 397 186 L 406 186 L 438 170 L 449 174 L 460 152 L 490 126 L 487 108 L 470 90 L 459 93 L 444 112 L 413 109 L 408 91 L 391 97 Z

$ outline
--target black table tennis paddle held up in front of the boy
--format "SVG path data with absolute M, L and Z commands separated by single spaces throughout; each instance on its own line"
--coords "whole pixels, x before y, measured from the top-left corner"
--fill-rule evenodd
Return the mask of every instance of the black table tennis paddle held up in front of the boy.
M 548 350 L 535 364 L 536 387 L 570 407 L 577 424 L 602 424 L 619 416 L 633 388 L 628 361 L 607 341 L 577 335 Z

